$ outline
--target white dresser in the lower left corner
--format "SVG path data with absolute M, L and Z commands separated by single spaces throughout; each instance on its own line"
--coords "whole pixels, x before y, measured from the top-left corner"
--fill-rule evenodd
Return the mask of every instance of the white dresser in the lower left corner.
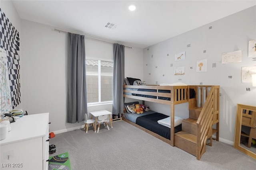
M 25 115 L 10 125 L 0 141 L 0 169 L 48 170 L 49 113 Z

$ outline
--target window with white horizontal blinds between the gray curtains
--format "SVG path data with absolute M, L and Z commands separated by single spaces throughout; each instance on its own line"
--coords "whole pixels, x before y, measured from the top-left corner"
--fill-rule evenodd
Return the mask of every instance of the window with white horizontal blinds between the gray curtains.
M 113 62 L 86 59 L 87 103 L 113 101 Z

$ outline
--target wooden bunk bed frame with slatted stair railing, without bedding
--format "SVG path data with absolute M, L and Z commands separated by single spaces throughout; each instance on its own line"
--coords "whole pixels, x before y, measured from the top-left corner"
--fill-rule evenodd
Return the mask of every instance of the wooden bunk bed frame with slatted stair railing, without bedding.
M 132 89 L 150 89 L 156 90 L 156 92 L 146 92 L 146 91 L 136 91 Z M 194 89 L 196 92 L 196 98 L 190 99 L 190 88 Z M 170 106 L 170 117 L 171 117 L 171 128 L 170 128 L 170 140 L 140 127 L 136 123 L 133 123 L 123 117 L 123 120 L 142 129 L 143 131 L 157 137 L 158 139 L 175 146 L 175 135 L 174 135 L 174 107 L 176 104 L 182 104 L 189 102 L 189 108 L 197 109 L 198 102 L 200 103 L 200 115 L 196 122 L 196 151 L 194 156 L 200 160 L 202 154 L 205 152 L 207 139 L 210 138 L 210 146 L 212 145 L 212 135 L 216 133 L 216 141 L 218 141 L 218 131 L 219 131 L 219 89 L 220 86 L 159 86 L 159 85 L 146 85 L 146 86 L 131 86 L 124 85 L 124 97 L 132 98 L 136 100 L 142 100 L 148 102 L 155 102 L 160 104 L 166 104 Z M 159 92 L 159 90 L 170 90 L 170 93 Z M 210 91 L 210 92 L 209 92 Z M 134 94 L 134 95 L 128 95 Z M 148 98 L 135 95 L 149 95 L 157 96 L 157 98 Z M 199 95 L 198 95 L 199 94 Z M 171 100 L 158 99 L 159 97 L 170 98 Z M 205 100 L 204 100 L 205 99 Z M 212 125 L 216 124 L 216 129 L 212 129 Z M 185 150 L 190 152 L 188 150 Z M 193 151 L 192 151 L 193 152 Z M 193 154 L 193 153 L 192 153 Z

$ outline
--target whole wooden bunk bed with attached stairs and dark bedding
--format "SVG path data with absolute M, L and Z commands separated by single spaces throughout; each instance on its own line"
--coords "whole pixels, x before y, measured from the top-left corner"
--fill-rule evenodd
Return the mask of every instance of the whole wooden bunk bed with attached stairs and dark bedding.
M 144 112 L 143 114 L 134 114 L 136 116 L 132 119 L 130 119 L 128 113 L 124 113 L 122 115 L 124 121 L 157 137 L 171 146 L 177 146 L 180 149 L 193 154 L 198 160 L 200 160 L 202 154 L 205 152 L 206 145 L 212 146 L 213 134 L 216 134 L 215 140 L 218 141 L 220 86 L 190 86 L 177 83 L 160 85 L 124 85 L 123 89 L 124 98 L 142 100 L 143 104 L 147 101 L 170 106 L 170 128 L 168 127 L 167 129 L 167 131 L 170 131 L 170 138 L 150 129 L 153 124 L 158 124 L 156 122 L 160 120 L 160 118 L 150 117 L 150 115 L 156 113 Z M 194 134 L 192 132 L 184 131 L 183 125 L 175 125 L 176 121 L 174 119 L 176 116 L 174 114 L 174 107 L 177 104 L 186 102 L 188 102 L 189 117 L 197 116 L 194 118 L 196 119 L 196 122 L 193 125 Z M 192 110 L 191 113 L 190 110 Z M 160 117 L 162 116 L 161 113 L 157 114 L 160 115 Z M 141 124 L 137 119 L 143 119 L 142 121 L 144 124 Z M 148 122 L 148 125 L 145 122 Z M 216 126 L 215 129 L 213 128 L 213 125 Z M 156 128 L 158 127 L 154 127 L 153 129 Z M 188 139 L 188 136 L 193 137 Z M 210 144 L 207 143 L 208 139 L 210 139 Z M 191 146 L 188 146 L 190 144 Z

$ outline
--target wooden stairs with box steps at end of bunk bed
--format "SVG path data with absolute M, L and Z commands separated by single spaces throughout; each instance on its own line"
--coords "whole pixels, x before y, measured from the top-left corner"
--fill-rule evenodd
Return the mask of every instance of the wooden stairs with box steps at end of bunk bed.
M 200 139 L 200 137 L 197 137 L 197 130 L 198 130 L 198 118 L 200 119 L 200 114 L 202 112 L 203 107 L 192 107 L 189 109 L 189 118 L 188 119 L 184 119 L 182 121 L 182 131 L 175 133 L 175 137 L 174 137 L 174 144 L 176 147 L 194 155 L 197 157 L 198 160 L 200 160 L 202 154 L 206 151 L 206 146 L 205 145 L 209 145 L 212 146 L 212 135 L 216 134 L 216 138 L 214 138 L 214 140 L 218 141 L 218 109 L 217 111 L 214 111 L 214 97 L 212 97 L 212 102 L 210 102 L 210 104 L 208 104 L 208 106 L 204 106 L 204 107 L 208 107 L 208 108 L 204 108 L 204 110 L 206 109 L 210 109 L 212 114 L 208 114 L 208 121 L 209 123 L 212 122 L 212 125 L 214 125 L 215 129 L 213 129 L 212 127 L 207 127 L 204 130 L 204 133 L 207 133 L 207 138 L 205 139 L 201 139 L 200 143 L 201 145 L 203 145 L 202 148 L 198 148 L 197 145 L 197 141 L 198 139 Z M 218 102 L 217 102 L 218 103 Z M 217 116 L 216 116 L 217 115 Z M 198 150 L 200 150 L 200 156 L 198 156 Z

